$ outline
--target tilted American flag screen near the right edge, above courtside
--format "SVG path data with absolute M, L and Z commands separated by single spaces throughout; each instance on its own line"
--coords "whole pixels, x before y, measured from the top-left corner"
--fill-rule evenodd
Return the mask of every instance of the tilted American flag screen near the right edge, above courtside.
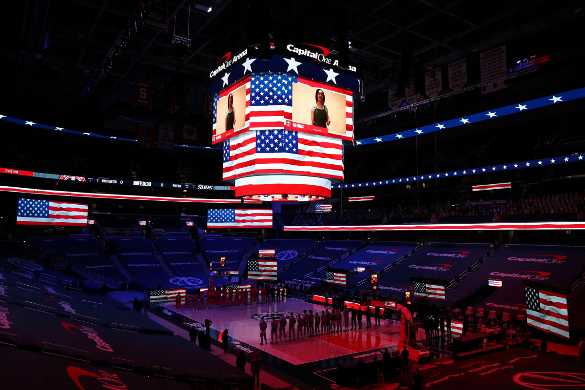
M 569 340 L 567 296 L 526 286 L 528 325 Z

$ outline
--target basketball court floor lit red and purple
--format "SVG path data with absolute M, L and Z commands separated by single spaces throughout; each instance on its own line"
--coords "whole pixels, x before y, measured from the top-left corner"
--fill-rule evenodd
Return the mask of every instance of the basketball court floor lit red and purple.
M 177 312 L 174 302 L 167 302 L 164 306 L 167 310 Z M 357 356 L 366 351 L 398 344 L 400 322 L 389 325 L 387 320 L 381 320 L 380 326 L 366 329 L 365 315 L 362 317 L 362 329 L 325 333 L 315 337 L 289 341 L 288 317 L 290 317 L 291 312 L 302 313 L 303 310 L 321 313 L 325 308 L 321 305 L 288 298 L 285 302 L 266 302 L 204 310 L 180 309 L 178 312 L 199 323 L 205 323 L 205 319 L 211 319 L 213 321 L 212 329 L 218 332 L 228 329 L 229 336 L 240 343 L 253 346 L 254 349 L 294 365 L 346 355 Z M 279 318 L 281 314 L 287 316 L 287 341 L 270 344 L 270 320 Z M 269 323 L 266 331 L 269 344 L 260 345 L 259 323 L 260 316 L 263 315 L 266 316 L 266 321 Z M 373 316 L 371 322 L 374 323 Z M 351 317 L 349 326 L 351 328 Z M 295 325 L 295 330 L 296 328 Z

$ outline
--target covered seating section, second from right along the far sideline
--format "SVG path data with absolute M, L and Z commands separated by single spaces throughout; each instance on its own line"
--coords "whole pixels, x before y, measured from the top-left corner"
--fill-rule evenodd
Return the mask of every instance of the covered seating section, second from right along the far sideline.
M 403 292 L 412 289 L 410 277 L 454 281 L 477 264 L 490 251 L 489 244 L 431 243 L 378 276 L 381 291 Z M 366 289 L 363 285 L 362 289 Z

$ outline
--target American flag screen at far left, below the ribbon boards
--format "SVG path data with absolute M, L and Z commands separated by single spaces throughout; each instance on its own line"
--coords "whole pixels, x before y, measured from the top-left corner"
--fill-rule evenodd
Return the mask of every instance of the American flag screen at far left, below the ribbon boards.
M 87 205 L 18 199 L 16 225 L 87 225 Z

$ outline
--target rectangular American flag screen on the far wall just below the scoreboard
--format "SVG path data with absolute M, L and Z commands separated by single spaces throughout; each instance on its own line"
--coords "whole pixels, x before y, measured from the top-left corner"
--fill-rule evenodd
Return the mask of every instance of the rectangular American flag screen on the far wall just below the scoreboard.
M 207 227 L 272 227 L 272 210 L 266 209 L 209 209 Z

